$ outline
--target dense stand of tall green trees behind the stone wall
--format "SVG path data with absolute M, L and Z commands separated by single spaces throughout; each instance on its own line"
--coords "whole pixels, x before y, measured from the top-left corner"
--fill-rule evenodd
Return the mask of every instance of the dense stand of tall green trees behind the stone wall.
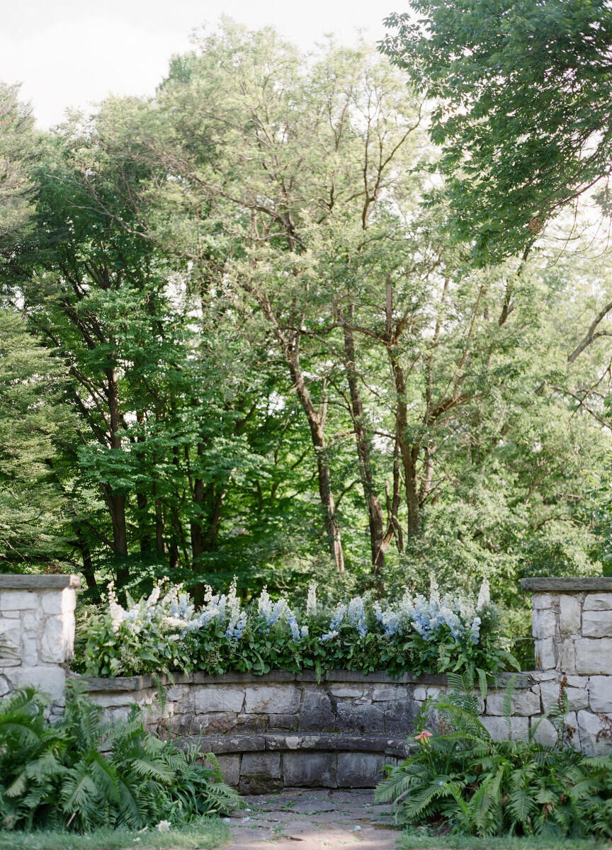
M 393 61 L 226 21 L 50 132 L 0 88 L 0 570 L 94 604 L 488 577 L 518 636 L 521 576 L 612 573 L 601 199 L 462 212 L 390 23 Z

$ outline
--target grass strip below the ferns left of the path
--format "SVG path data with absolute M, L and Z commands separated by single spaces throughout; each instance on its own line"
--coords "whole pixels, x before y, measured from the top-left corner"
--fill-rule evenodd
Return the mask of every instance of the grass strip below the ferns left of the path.
M 95 830 L 81 836 L 74 832 L 0 830 L 0 850 L 212 850 L 227 840 L 227 827 L 218 818 L 202 818 L 167 832 Z

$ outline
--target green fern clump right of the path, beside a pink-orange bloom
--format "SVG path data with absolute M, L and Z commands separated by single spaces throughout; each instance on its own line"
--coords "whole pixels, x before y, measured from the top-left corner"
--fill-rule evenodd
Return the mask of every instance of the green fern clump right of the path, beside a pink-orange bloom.
M 464 835 L 612 837 L 612 757 L 588 758 L 565 744 L 492 740 L 479 721 L 468 677 L 423 706 L 419 742 L 378 785 L 402 825 L 439 825 Z M 512 686 L 506 694 L 509 717 Z M 437 733 L 425 728 L 436 718 Z M 560 728 L 560 726 L 559 726 Z

